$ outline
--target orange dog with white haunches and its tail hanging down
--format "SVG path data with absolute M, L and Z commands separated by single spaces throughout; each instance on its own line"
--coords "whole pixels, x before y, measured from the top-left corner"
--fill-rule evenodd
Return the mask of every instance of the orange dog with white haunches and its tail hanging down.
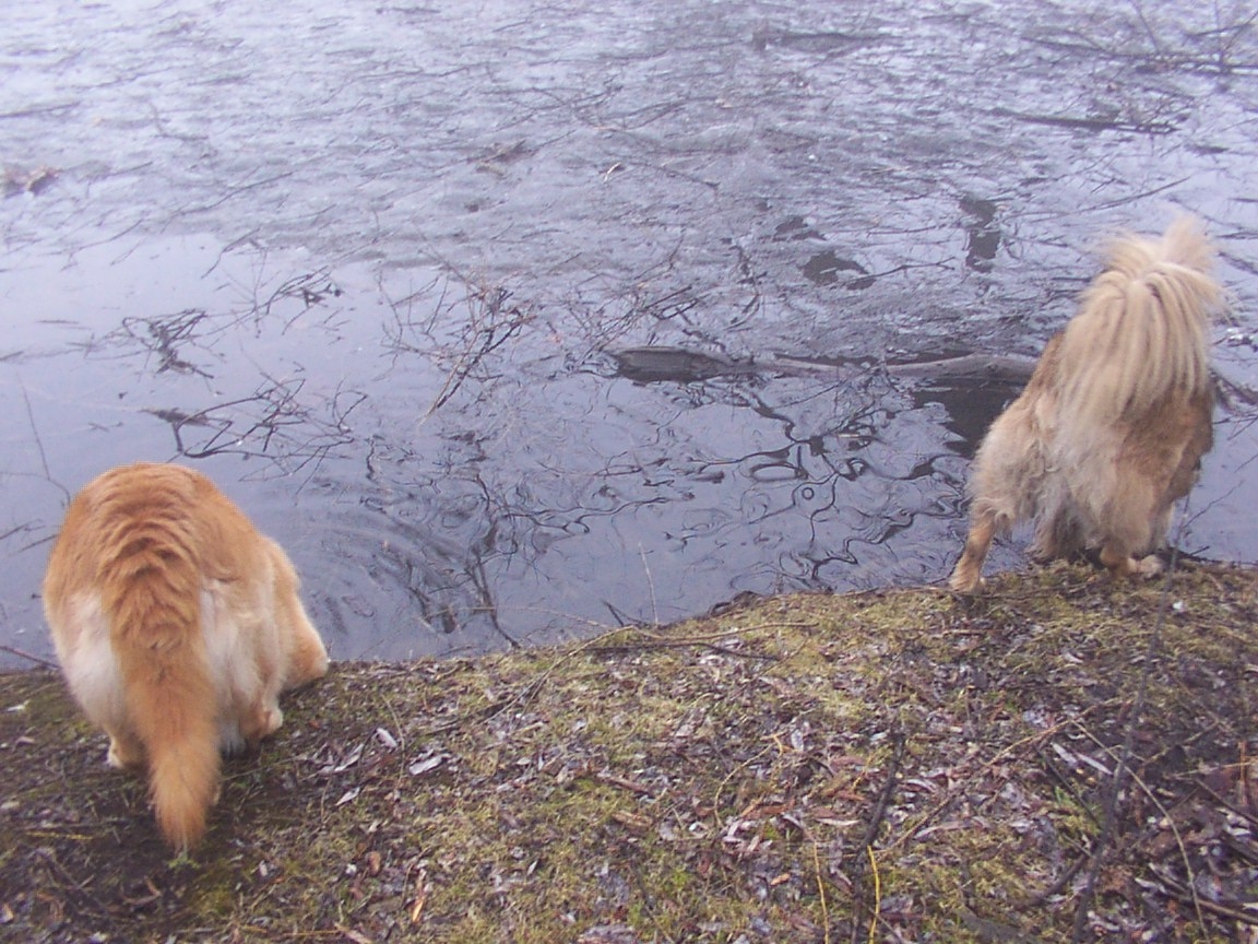
M 279 728 L 279 692 L 327 671 L 297 588 L 279 545 L 191 469 L 118 467 L 70 502 L 44 576 L 57 655 L 109 763 L 147 768 L 176 848 L 205 832 L 220 751 Z

